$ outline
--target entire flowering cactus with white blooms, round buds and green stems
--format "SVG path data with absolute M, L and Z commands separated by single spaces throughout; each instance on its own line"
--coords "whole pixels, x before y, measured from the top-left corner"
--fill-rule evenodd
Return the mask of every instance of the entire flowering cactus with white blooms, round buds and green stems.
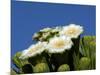
M 17 52 L 11 74 L 66 72 L 96 68 L 96 37 L 81 36 L 80 25 L 44 28 L 33 35 L 32 44 Z

